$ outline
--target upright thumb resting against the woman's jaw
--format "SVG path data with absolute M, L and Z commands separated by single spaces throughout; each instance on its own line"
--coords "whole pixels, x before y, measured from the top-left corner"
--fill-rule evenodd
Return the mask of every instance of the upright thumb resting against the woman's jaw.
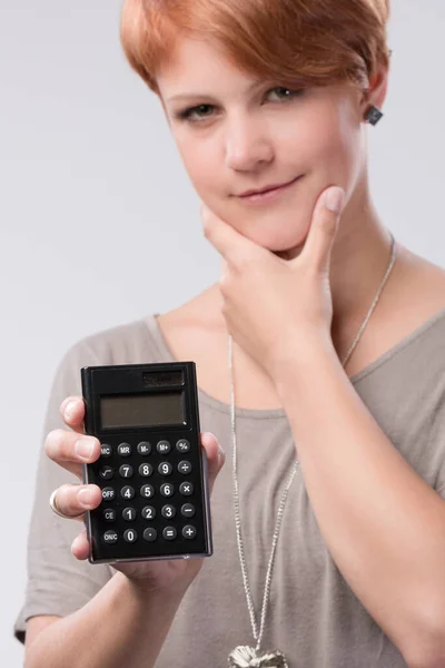
M 324 190 L 315 205 L 309 234 L 299 257 L 306 257 L 305 262 L 319 273 L 329 269 L 330 252 L 344 205 L 345 190 L 338 186 Z

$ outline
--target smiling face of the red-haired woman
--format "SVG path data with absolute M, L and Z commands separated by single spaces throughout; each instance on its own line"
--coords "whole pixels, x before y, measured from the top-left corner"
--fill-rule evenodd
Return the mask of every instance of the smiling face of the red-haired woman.
M 298 91 L 256 81 L 191 39 L 178 42 L 157 81 L 199 198 L 270 250 L 303 246 L 322 190 L 339 185 L 350 197 L 364 174 L 363 94 L 350 84 Z M 239 197 L 297 177 L 274 200 Z

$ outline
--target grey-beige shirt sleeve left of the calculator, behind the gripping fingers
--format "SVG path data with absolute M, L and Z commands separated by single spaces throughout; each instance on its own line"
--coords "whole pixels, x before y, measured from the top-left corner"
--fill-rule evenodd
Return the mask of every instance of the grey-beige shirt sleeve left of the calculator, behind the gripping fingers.
M 108 564 L 80 561 L 71 543 L 82 530 L 78 521 L 60 518 L 49 507 L 51 492 L 63 483 L 81 481 L 44 453 L 44 439 L 53 429 L 69 429 L 59 412 L 68 395 L 81 395 L 80 369 L 101 364 L 93 348 L 75 344 L 56 371 L 44 418 L 34 498 L 27 542 L 27 582 L 22 607 L 13 625 L 16 638 L 24 644 L 26 622 L 36 615 L 65 617 L 85 606 L 112 577 Z

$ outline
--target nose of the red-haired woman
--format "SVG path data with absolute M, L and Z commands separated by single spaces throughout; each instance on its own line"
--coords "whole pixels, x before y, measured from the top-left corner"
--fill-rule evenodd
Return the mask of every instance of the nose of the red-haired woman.
M 269 163 L 274 150 L 264 124 L 248 116 L 233 118 L 226 130 L 226 165 L 239 171 L 255 170 Z

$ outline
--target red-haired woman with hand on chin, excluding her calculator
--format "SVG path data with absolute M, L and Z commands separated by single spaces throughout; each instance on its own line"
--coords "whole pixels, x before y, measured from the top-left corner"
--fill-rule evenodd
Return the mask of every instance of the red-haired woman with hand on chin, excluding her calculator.
M 387 19 L 384 0 L 127 0 L 127 57 L 221 278 L 60 364 L 16 625 L 30 667 L 445 665 L 445 274 L 393 242 L 369 191 Z M 79 369 L 166 360 L 197 364 L 215 554 L 91 566 L 69 521 L 99 456 L 76 450 Z

